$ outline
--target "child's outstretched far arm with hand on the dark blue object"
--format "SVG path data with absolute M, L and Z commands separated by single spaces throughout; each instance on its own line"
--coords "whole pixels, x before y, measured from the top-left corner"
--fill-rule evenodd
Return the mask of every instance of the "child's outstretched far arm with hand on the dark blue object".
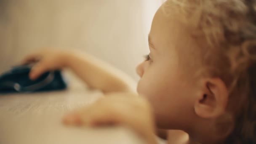
M 91 88 L 110 92 L 135 92 L 136 83 L 128 75 L 95 57 L 78 51 L 44 50 L 25 57 L 23 64 L 37 64 L 30 72 L 30 78 L 35 80 L 49 70 L 71 68 Z

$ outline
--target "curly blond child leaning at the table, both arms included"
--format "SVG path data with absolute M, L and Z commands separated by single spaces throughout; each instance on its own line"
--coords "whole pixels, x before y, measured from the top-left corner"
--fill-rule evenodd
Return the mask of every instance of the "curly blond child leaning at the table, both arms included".
M 147 143 L 256 143 L 256 1 L 167 0 L 156 12 L 150 53 L 129 78 L 89 55 L 34 53 L 45 71 L 71 68 L 106 97 L 64 118 L 70 125 L 122 124 Z M 113 93 L 119 92 L 119 93 Z

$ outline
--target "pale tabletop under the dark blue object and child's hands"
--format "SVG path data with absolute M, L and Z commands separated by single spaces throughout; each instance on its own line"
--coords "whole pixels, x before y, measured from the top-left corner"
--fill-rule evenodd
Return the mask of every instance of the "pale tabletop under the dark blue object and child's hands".
M 73 81 L 73 80 L 72 80 Z M 100 96 L 69 83 L 66 91 L 0 95 L 0 144 L 141 144 L 133 131 L 116 128 L 74 128 L 61 123 L 68 111 Z

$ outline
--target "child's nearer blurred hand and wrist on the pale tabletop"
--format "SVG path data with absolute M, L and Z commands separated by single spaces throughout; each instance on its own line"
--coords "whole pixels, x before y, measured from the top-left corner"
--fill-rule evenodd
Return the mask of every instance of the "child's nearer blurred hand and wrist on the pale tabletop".
M 126 125 L 143 136 L 149 144 L 156 143 L 155 124 L 148 101 L 130 93 L 110 94 L 67 115 L 64 123 L 87 126 Z

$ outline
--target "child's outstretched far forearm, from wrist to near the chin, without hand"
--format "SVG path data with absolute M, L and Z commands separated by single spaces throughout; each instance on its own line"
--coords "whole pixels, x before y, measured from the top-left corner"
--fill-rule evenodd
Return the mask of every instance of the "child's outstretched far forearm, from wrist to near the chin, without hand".
M 135 92 L 136 83 L 128 75 L 89 54 L 69 55 L 70 67 L 91 88 L 109 92 Z

